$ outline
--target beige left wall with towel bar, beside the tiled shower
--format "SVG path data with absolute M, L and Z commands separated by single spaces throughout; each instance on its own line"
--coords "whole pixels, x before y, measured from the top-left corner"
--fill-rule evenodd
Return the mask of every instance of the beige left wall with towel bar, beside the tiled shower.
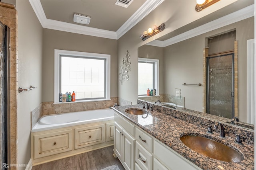
M 22 88 L 37 89 L 18 94 L 17 163 L 30 160 L 30 112 L 42 103 L 43 29 L 27 0 L 16 1 L 18 11 L 18 82 Z M 23 169 L 23 168 L 18 168 Z

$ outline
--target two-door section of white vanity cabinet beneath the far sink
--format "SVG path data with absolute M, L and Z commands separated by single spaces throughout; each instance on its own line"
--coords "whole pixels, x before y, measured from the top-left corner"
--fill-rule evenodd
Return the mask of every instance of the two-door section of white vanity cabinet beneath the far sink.
M 128 130 L 124 129 L 120 124 L 124 125 Z M 128 133 L 130 131 L 130 133 Z M 114 115 L 114 153 L 122 162 L 126 170 L 134 170 L 135 168 L 135 139 L 134 125 L 124 120 L 115 113 Z

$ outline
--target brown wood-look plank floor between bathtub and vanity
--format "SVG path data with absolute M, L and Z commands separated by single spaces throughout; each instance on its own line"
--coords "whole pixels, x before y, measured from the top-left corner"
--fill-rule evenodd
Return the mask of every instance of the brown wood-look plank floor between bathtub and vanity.
M 111 146 L 36 165 L 32 170 L 101 170 L 114 164 L 124 170 L 118 158 L 114 158 Z

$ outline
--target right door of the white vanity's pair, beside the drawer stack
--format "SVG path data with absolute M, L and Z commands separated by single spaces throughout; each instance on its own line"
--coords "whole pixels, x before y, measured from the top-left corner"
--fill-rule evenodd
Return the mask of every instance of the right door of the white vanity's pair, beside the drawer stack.
M 122 158 L 126 170 L 134 170 L 135 139 L 122 129 Z

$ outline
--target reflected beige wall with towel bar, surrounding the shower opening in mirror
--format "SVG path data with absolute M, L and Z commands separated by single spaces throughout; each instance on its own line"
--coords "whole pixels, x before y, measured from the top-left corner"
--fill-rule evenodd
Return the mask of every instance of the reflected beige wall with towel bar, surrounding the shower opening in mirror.
M 238 117 L 240 121 L 246 122 L 247 39 L 254 38 L 253 17 L 164 47 L 165 93 L 174 95 L 175 88 L 181 88 L 181 94 L 185 97 L 185 107 L 202 111 L 204 87 L 183 86 L 182 84 L 202 84 L 202 55 L 205 38 L 231 29 L 236 29 L 238 41 Z

